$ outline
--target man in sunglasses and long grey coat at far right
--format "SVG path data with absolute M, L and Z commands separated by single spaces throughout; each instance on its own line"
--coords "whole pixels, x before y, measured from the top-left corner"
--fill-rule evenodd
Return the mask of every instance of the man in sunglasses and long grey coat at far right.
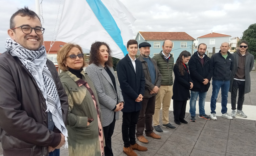
M 248 42 L 243 40 L 239 45 L 239 49 L 232 55 L 233 70 L 230 77 L 229 92 L 231 92 L 231 117 L 239 115 L 246 118 L 243 113 L 243 101 L 245 94 L 251 91 L 250 72 L 253 68 L 254 57 L 248 52 Z M 238 91 L 237 111 L 236 111 L 236 96 Z

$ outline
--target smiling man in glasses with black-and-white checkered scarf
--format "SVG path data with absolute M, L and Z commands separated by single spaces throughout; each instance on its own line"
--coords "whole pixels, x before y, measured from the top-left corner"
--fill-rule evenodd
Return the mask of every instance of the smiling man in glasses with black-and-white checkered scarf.
M 0 56 L 3 155 L 60 155 L 67 143 L 68 98 L 46 58 L 44 28 L 38 15 L 24 7 L 11 16 L 7 32 L 7 51 Z

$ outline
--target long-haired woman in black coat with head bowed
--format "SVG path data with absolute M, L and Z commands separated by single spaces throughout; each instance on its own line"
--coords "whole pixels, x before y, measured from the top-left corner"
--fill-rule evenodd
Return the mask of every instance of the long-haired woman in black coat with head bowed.
M 187 124 L 184 120 L 187 100 L 190 99 L 189 89 L 193 88 L 193 81 L 189 76 L 188 66 L 185 64 L 189 61 L 191 54 L 188 51 L 181 52 L 175 65 L 173 72 L 175 75 L 173 83 L 173 115 L 174 122 L 177 125 L 181 123 Z

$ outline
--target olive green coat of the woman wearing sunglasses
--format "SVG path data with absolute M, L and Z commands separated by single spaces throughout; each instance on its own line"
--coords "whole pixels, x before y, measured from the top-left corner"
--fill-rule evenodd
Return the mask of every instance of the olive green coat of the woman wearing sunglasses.
M 81 71 L 98 101 L 98 96 L 89 76 Z M 84 85 L 78 86 L 75 82 L 80 80 L 70 71 L 60 74 L 62 85 L 68 95 L 68 149 L 72 156 L 100 156 L 98 113 L 90 92 Z M 100 120 L 101 111 L 99 108 Z M 87 126 L 88 118 L 94 119 Z M 103 132 L 103 130 L 102 130 Z

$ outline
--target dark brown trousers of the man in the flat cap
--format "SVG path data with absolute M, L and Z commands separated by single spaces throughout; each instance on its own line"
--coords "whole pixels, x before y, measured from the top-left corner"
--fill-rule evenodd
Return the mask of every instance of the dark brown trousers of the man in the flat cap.
M 145 129 L 145 133 L 150 134 L 153 132 L 153 115 L 155 113 L 155 104 L 156 104 L 156 96 L 150 98 L 143 98 L 142 100 L 142 108 L 140 110 L 139 119 L 136 126 L 136 136 L 143 135 L 143 131 Z

